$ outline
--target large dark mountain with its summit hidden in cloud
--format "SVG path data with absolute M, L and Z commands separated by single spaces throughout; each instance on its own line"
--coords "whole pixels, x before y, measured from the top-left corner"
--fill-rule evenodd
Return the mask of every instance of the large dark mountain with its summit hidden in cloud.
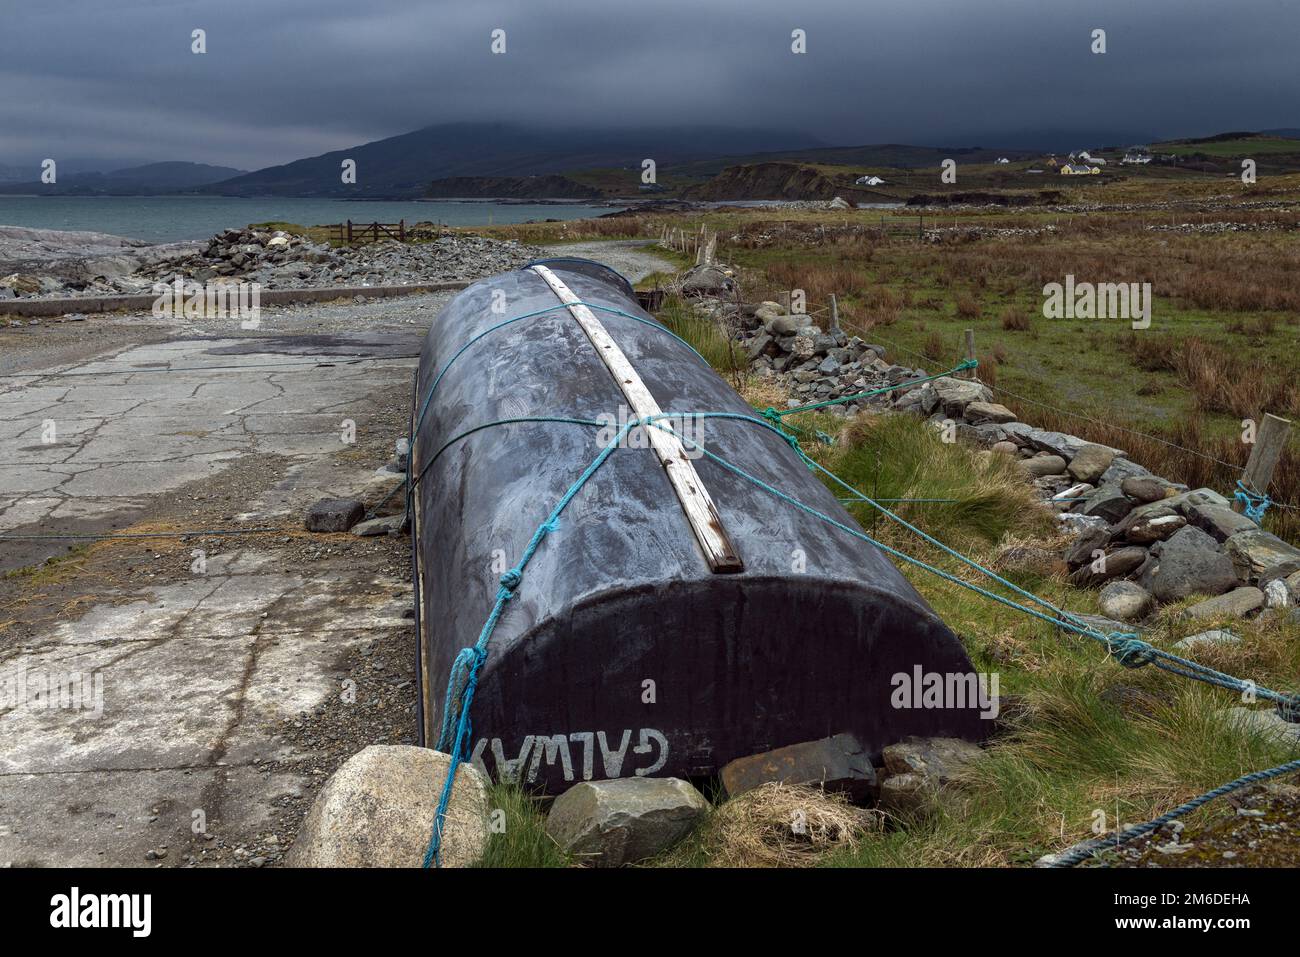
M 698 127 L 563 130 L 508 124 L 445 124 L 260 169 L 203 187 L 225 196 L 420 196 L 433 179 L 523 177 L 618 166 L 640 170 L 653 159 L 668 166 L 710 156 L 815 148 L 800 133 Z M 355 160 L 356 183 L 342 182 L 343 160 Z

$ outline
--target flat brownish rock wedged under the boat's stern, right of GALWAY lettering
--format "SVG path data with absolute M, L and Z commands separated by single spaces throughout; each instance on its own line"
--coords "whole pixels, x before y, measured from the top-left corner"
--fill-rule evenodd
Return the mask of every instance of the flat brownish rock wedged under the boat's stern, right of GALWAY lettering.
M 853 801 L 864 801 L 880 787 L 871 755 L 853 735 L 835 735 L 736 758 L 723 766 L 720 774 L 729 797 L 768 781 L 781 781 L 844 791 Z

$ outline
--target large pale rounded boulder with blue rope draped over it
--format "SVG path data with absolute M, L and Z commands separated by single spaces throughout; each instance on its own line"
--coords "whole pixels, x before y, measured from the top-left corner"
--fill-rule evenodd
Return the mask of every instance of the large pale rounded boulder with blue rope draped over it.
M 412 745 L 370 745 L 330 775 L 285 858 L 289 867 L 419 867 L 451 759 Z M 456 770 L 439 862 L 467 867 L 488 845 L 488 783 Z

